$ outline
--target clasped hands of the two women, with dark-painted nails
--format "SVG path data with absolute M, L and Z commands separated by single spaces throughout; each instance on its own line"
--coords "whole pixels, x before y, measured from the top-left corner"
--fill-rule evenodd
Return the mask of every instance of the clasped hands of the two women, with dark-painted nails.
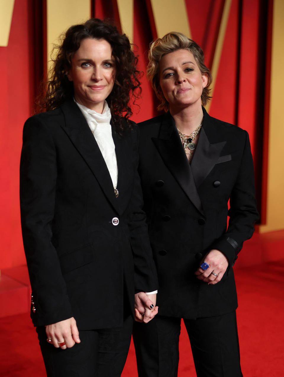
M 147 323 L 158 313 L 156 294 L 139 292 L 135 294 L 135 321 Z

